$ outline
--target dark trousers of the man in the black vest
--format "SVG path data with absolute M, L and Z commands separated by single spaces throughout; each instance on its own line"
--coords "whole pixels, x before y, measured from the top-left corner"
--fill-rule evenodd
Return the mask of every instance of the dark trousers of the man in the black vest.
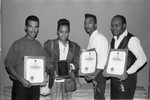
M 130 99 L 134 98 L 134 93 L 137 84 L 137 74 L 131 74 L 123 81 L 124 91 L 121 90 L 120 80 L 118 78 L 111 78 L 111 99 Z

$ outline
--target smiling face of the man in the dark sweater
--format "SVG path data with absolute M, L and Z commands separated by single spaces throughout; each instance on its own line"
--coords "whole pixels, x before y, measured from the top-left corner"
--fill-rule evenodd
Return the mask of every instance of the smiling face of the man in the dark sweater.
M 37 21 L 29 20 L 28 25 L 25 28 L 26 28 L 27 38 L 31 40 L 35 39 L 39 32 L 39 23 Z

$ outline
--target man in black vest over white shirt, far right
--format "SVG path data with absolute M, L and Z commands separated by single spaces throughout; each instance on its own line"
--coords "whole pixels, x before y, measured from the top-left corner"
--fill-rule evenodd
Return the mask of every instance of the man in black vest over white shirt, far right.
M 124 16 L 113 17 L 111 32 L 114 36 L 111 49 L 128 49 L 126 78 L 123 81 L 115 77 L 111 78 L 111 99 L 133 99 L 137 84 L 137 70 L 147 62 L 147 58 L 139 39 L 127 31 Z

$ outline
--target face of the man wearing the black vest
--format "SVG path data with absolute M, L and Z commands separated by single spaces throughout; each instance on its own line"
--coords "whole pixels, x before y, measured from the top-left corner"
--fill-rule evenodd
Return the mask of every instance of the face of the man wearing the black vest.
M 126 29 L 126 24 L 122 24 L 121 18 L 114 18 L 111 21 L 111 32 L 113 36 L 119 37 Z

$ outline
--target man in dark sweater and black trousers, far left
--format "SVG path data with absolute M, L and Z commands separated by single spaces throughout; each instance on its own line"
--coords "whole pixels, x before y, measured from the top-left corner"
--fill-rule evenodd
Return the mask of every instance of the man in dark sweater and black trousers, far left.
M 31 86 L 24 79 L 24 56 L 43 56 L 42 45 L 35 38 L 39 32 L 39 19 L 29 16 L 25 21 L 26 35 L 15 41 L 5 59 L 5 67 L 13 81 L 12 100 L 39 100 L 40 86 Z

